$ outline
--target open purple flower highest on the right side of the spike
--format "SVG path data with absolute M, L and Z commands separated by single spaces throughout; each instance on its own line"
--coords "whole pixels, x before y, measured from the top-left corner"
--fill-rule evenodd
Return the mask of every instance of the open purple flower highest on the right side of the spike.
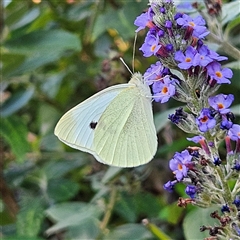
M 202 16 L 197 16 L 195 19 L 193 19 L 187 14 L 183 14 L 181 18 L 177 19 L 177 24 L 182 27 L 193 29 L 193 37 L 204 38 L 209 34 L 209 31 L 204 26 L 206 23 Z

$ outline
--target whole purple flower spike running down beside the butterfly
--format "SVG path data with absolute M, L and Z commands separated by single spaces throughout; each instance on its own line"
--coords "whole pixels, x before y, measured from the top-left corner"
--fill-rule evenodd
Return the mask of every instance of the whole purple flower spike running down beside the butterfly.
M 158 59 L 146 70 L 144 80 L 152 89 L 154 101 L 165 103 L 174 98 L 186 103 L 187 110 L 178 108 L 175 114 L 169 115 L 169 119 L 183 131 L 194 135 L 187 138 L 189 141 L 200 144 L 200 147 L 188 147 L 174 154 L 169 162 L 174 180 L 163 187 L 171 192 L 177 183 L 183 182 L 187 185 L 185 193 L 190 197 L 186 202 L 209 206 L 219 199 L 229 198 L 211 195 L 211 191 L 222 186 L 220 179 L 239 179 L 240 125 L 234 123 L 230 110 L 234 96 L 215 94 L 221 84 L 231 83 L 233 72 L 220 64 L 227 57 L 220 56 L 204 44 L 209 31 L 201 16 L 193 18 L 176 12 L 171 0 L 151 0 L 149 5 L 148 11 L 134 22 L 138 27 L 136 32 L 148 28 L 140 47 L 143 56 Z M 218 153 L 223 139 L 226 160 Z M 235 142 L 235 150 L 232 150 L 231 141 Z M 220 175 L 216 169 L 222 171 Z M 225 190 L 219 192 L 224 193 Z M 209 195 L 211 197 L 206 197 Z M 231 212 L 229 204 L 235 204 L 239 209 L 239 198 L 223 203 L 223 212 Z

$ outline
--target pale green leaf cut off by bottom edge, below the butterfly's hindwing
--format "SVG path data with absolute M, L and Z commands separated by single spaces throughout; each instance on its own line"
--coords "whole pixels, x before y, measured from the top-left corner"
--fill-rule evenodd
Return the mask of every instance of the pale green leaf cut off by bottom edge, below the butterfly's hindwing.
M 141 224 L 129 223 L 110 231 L 110 233 L 104 237 L 104 240 L 146 240 L 152 239 L 152 237 L 152 234 Z

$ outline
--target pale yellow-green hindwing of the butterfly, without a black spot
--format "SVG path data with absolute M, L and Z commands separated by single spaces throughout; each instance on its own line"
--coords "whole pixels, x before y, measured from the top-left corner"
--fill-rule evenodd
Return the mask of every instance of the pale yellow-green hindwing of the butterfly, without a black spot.
M 136 86 L 125 89 L 99 119 L 94 149 L 103 163 L 133 167 L 149 162 L 157 149 L 151 99 Z

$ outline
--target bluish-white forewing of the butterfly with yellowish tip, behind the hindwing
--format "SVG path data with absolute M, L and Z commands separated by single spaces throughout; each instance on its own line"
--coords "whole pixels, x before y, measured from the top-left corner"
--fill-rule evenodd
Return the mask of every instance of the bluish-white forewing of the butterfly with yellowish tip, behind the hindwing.
M 129 85 L 131 84 L 119 84 L 106 88 L 69 110 L 57 123 L 55 135 L 73 148 L 94 154 L 92 145 L 95 128 L 91 124 L 98 125 L 104 110 Z

